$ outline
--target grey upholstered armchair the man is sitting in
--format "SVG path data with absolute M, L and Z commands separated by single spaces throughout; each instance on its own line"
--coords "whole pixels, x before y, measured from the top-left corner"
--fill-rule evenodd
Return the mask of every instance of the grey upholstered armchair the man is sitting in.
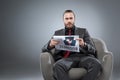
M 101 39 L 92 38 L 97 49 L 98 59 L 102 63 L 102 74 L 98 77 L 97 80 L 110 80 L 110 76 L 113 69 L 113 55 L 106 48 L 104 41 Z M 52 51 L 54 54 L 54 50 Z M 54 64 L 54 59 L 52 55 L 48 52 L 40 54 L 40 66 L 44 80 L 53 80 L 52 79 L 52 66 Z M 72 79 L 78 79 L 84 76 L 87 71 L 84 68 L 72 68 L 69 71 L 69 76 Z

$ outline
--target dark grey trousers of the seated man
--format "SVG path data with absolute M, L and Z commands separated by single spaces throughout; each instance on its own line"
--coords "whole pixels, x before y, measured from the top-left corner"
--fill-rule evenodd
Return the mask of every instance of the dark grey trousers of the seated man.
M 87 70 L 87 74 L 79 80 L 96 80 L 102 67 L 99 60 L 94 57 L 68 57 L 56 61 L 53 65 L 54 80 L 71 80 L 68 71 L 71 68 L 82 67 Z

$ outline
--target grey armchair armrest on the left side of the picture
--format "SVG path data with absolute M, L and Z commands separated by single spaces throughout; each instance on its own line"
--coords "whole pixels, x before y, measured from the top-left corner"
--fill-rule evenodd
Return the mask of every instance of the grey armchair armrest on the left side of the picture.
M 40 66 L 45 80 L 52 80 L 54 59 L 49 52 L 40 54 Z

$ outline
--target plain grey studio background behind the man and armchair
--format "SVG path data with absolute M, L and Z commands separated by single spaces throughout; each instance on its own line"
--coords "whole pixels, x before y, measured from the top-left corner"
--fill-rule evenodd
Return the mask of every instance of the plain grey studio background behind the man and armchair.
M 64 27 L 66 9 L 76 26 L 105 41 L 114 55 L 111 79 L 120 79 L 119 0 L 0 0 L 0 80 L 42 80 L 41 48 Z

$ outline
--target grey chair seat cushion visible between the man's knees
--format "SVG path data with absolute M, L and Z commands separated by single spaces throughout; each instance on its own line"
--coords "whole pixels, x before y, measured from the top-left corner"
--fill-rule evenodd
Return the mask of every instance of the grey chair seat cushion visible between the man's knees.
M 69 71 L 69 77 L 71 79 L 80 79 L 87 73 L 87 70 L 84 68 L 71 68 Z

